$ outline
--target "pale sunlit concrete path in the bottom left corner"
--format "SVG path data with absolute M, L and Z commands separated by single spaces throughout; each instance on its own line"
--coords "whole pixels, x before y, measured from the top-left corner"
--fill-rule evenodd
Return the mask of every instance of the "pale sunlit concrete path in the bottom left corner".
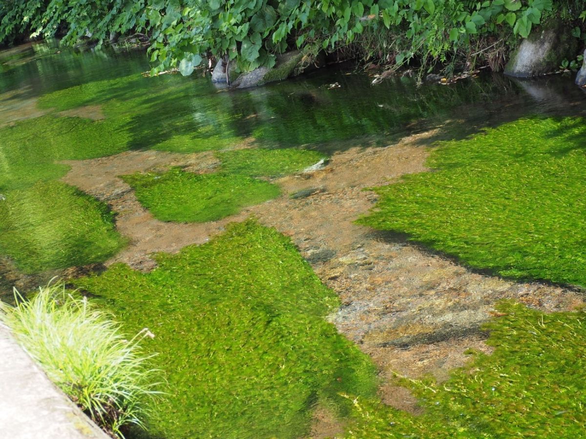
M 0 324 L 0 438 L 107 439 Z

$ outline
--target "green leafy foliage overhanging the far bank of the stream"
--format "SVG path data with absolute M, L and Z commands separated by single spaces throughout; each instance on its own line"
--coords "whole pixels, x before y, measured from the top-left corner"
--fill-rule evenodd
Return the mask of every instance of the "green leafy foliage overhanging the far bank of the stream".
M 0 0 L 0 42 L 62 33 L 65 44 L 110 32 L 149 36 L 153 73 L 190 74 L 206 56 L 239 70 L 272 66 L 287 49 L 335 50 L 366 31 L 401 65 L 414 57 L 445 61 L 487 33 L 526 37 L 552 0 Z M 369 54 L 372 54 L 371 50 Z

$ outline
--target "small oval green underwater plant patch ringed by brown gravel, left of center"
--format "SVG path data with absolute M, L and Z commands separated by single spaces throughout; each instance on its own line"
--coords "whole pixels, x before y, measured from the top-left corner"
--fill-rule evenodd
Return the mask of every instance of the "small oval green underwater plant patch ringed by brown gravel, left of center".
M 139 202 L 162 221 L 214 221 L 281 193 L 276 185 L 243 175 L 195 174 L 178 168 L 123 178 L 135 190 Z

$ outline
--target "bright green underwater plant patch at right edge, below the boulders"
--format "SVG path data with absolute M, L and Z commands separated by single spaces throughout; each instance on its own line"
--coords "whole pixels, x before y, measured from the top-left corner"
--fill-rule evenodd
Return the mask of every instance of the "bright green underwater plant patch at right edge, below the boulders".
M 586 286 L 586 124 L 523 119 L 445 142 L 360 220 L 513 278 Z

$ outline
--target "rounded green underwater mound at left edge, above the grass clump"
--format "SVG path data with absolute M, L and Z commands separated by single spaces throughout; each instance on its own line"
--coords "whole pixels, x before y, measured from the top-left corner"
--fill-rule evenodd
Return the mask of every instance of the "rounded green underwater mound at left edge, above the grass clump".
M 60 182 L 11 190 L 0 200 L 0 254 L 37 273 L 99 263 L 124 244 L 103 203 Z

